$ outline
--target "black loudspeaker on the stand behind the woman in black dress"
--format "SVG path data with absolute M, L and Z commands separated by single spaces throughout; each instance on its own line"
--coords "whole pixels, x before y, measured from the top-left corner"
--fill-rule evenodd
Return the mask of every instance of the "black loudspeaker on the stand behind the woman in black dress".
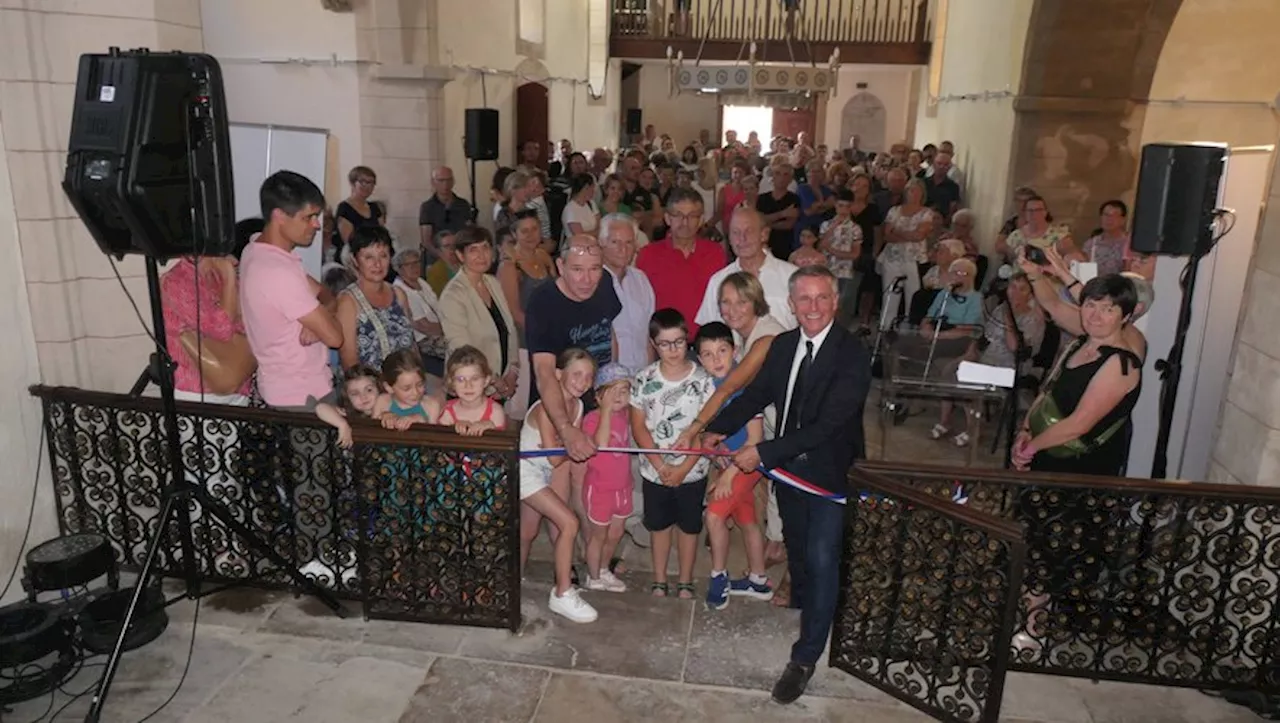
M 1213 241 L 1226 146 L 1151 143 L 1142 148 L 1133 250 L 1193 256 Z

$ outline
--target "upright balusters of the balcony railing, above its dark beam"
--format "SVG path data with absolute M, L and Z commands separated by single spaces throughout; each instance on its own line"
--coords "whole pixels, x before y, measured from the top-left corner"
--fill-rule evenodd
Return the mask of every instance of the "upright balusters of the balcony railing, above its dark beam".
M 613 36 L 649 40 L 780 41 L 785 0 L 613 0 Z M 927 0 L 800 0 L 790 23 L 801 42 L 928 42 Z

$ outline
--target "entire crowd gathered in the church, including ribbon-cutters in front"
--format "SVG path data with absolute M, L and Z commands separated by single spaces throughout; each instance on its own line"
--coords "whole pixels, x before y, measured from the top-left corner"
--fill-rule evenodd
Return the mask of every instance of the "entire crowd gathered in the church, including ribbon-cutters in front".
M 1076 244 L 1027 188 L 982 243 L 950 142 L 868 152 L 855 137 L 828 152 L 801 133 L 763 151 L 754 133 L 707 136 L 677 152 L 649 127 L 641 143 L 590 157 L 562 141 L 550 163 L 531 141 L 518 168 L 495 174 L 493 232 L 453 193 L 452 170 L 435 169 L 420 238 L 399 250 L 371 201 L 372 169 L 352 169 L 332 221 L 314 183 L 279 171 L 234 256 L 165 275 L 179 397 L 317 415 L 344 445 L 356 416 L 462 435 L 522 420 L 521 562 L 548 522 L 549 609 L 596 619 L 581 590 L 625 591 L 618 543 L 646 537 L 654 596 L 801 610 L 774 688 L 795 700 L 835 614 L 842 507 L 762 471 L 846 491 L 864 453 L 870 320 L 899 303 L 884 292 L 906 292 L 891 316 L 923 334 L 970 334 L 968 356 L 983 363 L 1021 369 L 1042 340 L 1070 339 L 1046 365 L 1012 463 L 1119 473 L 1152 261 L 1129 248 L 1123 202 L 1105 203 L 1100 230 Z M 334 258 L 320 280 L 293 253 L 317 235 Z M 988 246 L 1014 271 L 993 297 L 987 276 L 1007 274 L 989 274 Z M 1080 283 L 1071 261 L 1097 276 Z M 950 417 L 943 406 L 932 436 L 968 444 Z M 599 452 L 621 447 L 653 452 Z M 716 454 L 684 453 L 694 448 Z M 704 527 L 712 573 L 699 594 Z M 727 569 L 732 528 L 740 577 Z M 782 560 L 787 573 L 769 580 Z

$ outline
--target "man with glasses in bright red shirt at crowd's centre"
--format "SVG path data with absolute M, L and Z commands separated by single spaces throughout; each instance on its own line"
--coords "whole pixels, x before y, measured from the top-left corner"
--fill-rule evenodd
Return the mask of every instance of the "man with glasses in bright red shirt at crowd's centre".
M 698 238 L 703 223 L 703 197 L 691 188 L 673 188 L 667 198 L 667 228 L 671 233 L 640 250 L 636 269 L 649 276 L 654 306 L 675 308 L 689 322 L 689 337 L 698 334 L 698 306 L 707 282 L 728 260 L 714 241 Z

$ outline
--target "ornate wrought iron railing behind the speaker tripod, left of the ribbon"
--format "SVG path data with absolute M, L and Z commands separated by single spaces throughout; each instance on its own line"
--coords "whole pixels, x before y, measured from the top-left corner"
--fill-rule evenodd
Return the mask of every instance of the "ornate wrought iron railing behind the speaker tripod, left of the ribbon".
M 159 399 L 35 386 L 63 534 L 106 535 L 140 568 L 169 480 Z M 356 445 L 301 413 L 178 403 L 184 475 L 296 568 L 366 617 L 520 624 L 513 433 L 390 433 L 353 421 Z M 292 585 L 193 502 L 196 568 L 210 582 Z M 183 573 L 170 522 L 157 569 Z

